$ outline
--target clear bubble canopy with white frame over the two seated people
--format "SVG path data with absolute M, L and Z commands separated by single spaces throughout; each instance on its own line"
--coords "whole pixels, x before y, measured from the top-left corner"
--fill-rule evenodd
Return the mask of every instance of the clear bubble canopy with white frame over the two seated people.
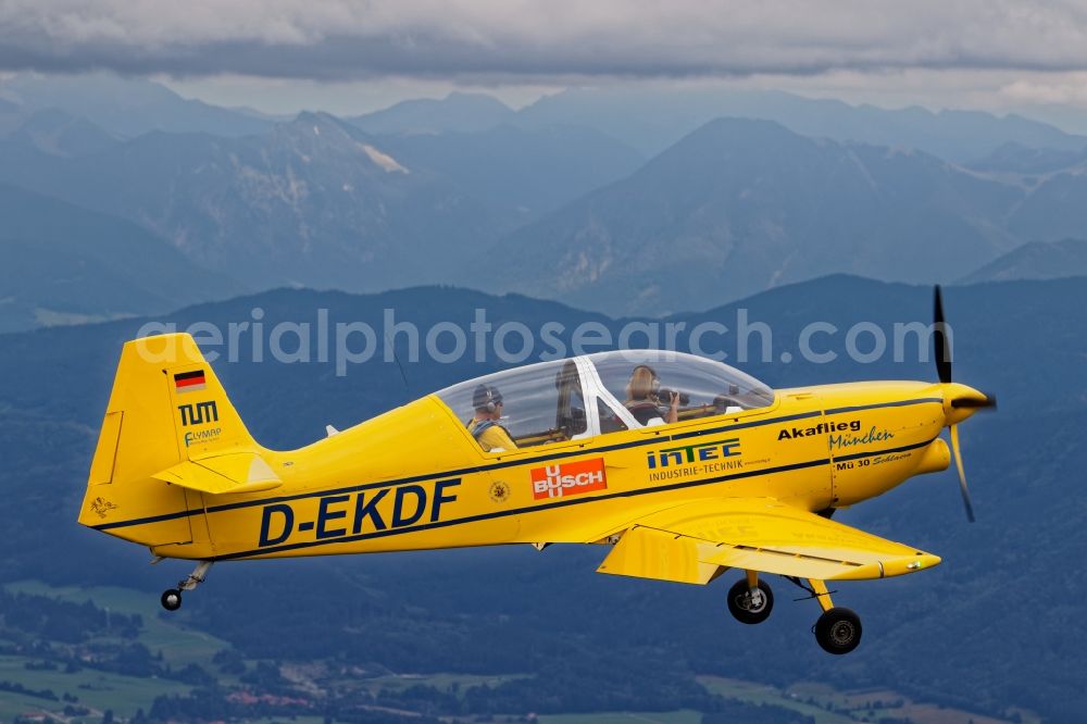
M 769 407 L 774 392 L 735 367 L 666 350 L 617 350 L 541 362 L 437 392 L 467 426 L 498 417 L 517 448 Z M 499 400 L 477 411 L 480 401 Z

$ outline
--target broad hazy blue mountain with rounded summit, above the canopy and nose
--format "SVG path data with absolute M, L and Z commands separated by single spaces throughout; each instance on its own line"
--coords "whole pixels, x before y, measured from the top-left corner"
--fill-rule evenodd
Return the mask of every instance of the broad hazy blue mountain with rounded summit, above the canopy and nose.
M 948 280 L 1016 246 L 1022 199 L 920 151 L 714 121 L 503 239 L 502 288 L 667 314 L 833 272 Z

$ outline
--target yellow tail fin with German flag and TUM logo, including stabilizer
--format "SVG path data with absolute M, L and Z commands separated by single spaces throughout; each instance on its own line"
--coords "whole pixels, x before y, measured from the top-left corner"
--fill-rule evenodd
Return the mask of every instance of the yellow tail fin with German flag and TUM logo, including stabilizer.
M 261 452 L 191 336 L 129 341 L 79 522 L 104 527 L 104 519 L 176 508 L 176 496 L 166 490 L 171 485 L 213 494 L 275 487 L 278 480 Z M 129 510 L 117 510 L 122 497 Z

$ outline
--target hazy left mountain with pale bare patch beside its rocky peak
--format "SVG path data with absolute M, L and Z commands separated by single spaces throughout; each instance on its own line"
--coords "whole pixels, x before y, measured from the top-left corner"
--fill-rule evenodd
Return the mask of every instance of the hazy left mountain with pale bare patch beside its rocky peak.
M 243 138 L 152 132 L 58 157 L 0 142 L 0 180 L 140 224 L 258 288 L 436 283 L 541 210 L 640 159 L 578 129 L 499 127 L 434 143 L 327 114 Z

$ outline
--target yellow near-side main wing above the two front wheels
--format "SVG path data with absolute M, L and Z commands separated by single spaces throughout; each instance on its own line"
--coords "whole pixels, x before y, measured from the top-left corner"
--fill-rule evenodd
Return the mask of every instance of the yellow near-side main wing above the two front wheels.
M 940 559 L 772 498 L 685 503 L 636 521 L 598 573 L 707 584 L 726 567 L 819 581 L 914 573 Z

